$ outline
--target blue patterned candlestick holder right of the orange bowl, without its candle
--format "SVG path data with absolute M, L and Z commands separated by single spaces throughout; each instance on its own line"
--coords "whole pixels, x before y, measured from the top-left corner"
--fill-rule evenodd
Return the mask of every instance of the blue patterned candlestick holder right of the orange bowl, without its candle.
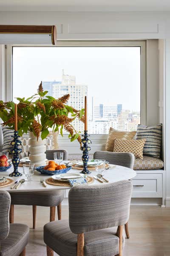
M 89 174 L 91 173 L 89 170 L 88 170 L 88 159 L 89 159 L 89 156 L 88 156 L 88 151 L 91 150 L 91 147 L 89 147 L 88 144 L 91 143 L 91 140 L 88 139 L 88 131 L 84 131 L 84 135 L 82 135 L 82 137 L 84 137 L 82 140 L 81 140 L 81 143 L 83 144 L 83 146 L 81 146 L 81 150 L 83 151 L 83 155 L 82 155 L 82 161 L 83 161 L 83 170 L 81 173 L 83 174 Z

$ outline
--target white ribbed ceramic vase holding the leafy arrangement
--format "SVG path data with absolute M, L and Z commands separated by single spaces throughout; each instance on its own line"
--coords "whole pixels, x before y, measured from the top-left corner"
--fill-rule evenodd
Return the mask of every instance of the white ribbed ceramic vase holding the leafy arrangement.
M 45 160 L 46 160 L 46 154 L 45 154 L 45 140 L 38 138 L 34 136 L 33 132 L 29 133 L 30 139 L 29 139 L 29 160 L 31 163 L 34 163 L 34 165 L 37 166 L 45 166 Z

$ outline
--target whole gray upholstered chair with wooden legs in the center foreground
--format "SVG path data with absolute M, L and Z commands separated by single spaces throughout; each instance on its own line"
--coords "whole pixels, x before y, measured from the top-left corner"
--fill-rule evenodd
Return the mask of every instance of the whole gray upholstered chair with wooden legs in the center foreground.
M 130 180 L 71 188 L 69 221 L 44 226 L 47 256 L 122 256 L 131 193 Z

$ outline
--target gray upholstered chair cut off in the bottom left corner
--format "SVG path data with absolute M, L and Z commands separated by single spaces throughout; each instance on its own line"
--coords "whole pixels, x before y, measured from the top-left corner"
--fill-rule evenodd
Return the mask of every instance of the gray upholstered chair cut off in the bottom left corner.
M 11 198 L 0 191 L 0 256 L 25 256 L 29 228 L 24 224 L 9 224 Z

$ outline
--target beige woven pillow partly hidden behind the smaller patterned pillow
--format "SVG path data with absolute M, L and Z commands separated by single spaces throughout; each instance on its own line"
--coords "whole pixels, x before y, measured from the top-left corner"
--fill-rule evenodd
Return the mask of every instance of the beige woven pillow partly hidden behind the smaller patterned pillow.
M 136 131 L 118 131 L 111 127 L 109 130 L 108 139 L 106 141 L 105 151 L 113 152 L 115 138 L 123 140 L 132 140 L 135 134 Z

